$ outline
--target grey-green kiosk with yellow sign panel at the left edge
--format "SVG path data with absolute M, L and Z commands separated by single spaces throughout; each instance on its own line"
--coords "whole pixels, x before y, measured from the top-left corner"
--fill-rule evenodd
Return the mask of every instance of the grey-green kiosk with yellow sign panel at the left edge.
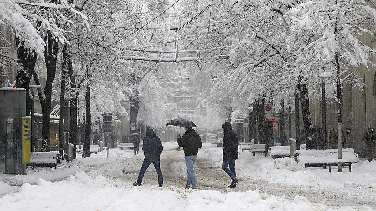
M 26 90 L 0 88 L 0 173 L 26 174 L 30 162 L 30 117 Z

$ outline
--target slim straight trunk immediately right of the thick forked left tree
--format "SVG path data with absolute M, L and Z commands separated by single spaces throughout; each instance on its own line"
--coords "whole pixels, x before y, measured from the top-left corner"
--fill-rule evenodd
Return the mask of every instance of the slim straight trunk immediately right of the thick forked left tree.
M 65 78 L 67 72 L 67 45 L 63 46 L 63 63 L 61 69 L 61 86 L 60 86 L 60 101 L 59 101 L 59 154 L 64 159 L 64 96 L 65 96 Z

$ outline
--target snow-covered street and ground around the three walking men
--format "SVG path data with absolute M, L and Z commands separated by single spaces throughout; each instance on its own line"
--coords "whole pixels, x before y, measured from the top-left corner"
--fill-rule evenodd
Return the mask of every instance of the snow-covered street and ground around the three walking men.
M 222 148 L 204 143 L 195 163 L 199 190 L 185 190 L 183 152 L 164 143 L 164 188 L 150 166 L 141 187 L 133 187 L 144 155 L 110 149 L 67 167 L 39 168 L 27 175 L 0 175 L 0 210 L 373 210 L 376 161 L 359 161 L 353 172 L 304 169 L 239 152 L 237 188 L 221 169 Z M 287 167 L 286 167 L 287 166 Z M 288 170 L 289 169 L 289 170 Z M 302 170 L 303 169 L 303 170 Z M 334 206 L 337 205 L 337 206 Z

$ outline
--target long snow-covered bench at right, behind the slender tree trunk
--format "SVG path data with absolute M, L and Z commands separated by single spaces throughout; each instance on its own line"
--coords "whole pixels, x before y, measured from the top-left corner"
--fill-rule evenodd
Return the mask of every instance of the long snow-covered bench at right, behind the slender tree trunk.
M 358 163 L 358 155 L 354 153 L 354 149 L 342 149 L 342 159 L 338 159 L 337 149 L 296 150 L 294 157 L 298 163 L 304 163 L 306 167 L 329 167 L 329 172 L 331 166 L 338 166 L 338 163 L 342 163 L 343 167 L 349 166 L 351 172 L 351 164 Z

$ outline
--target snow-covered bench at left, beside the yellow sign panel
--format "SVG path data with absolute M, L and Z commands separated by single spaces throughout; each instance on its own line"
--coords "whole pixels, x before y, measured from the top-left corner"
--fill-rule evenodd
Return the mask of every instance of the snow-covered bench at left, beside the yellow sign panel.
M 56 152 L 31 152 L 30 164 L 27 164 L 27 166 L 31 166 L 32 168 L 35 166 L 54 167 L 56 169 L 57 163 L 58 156 Z

